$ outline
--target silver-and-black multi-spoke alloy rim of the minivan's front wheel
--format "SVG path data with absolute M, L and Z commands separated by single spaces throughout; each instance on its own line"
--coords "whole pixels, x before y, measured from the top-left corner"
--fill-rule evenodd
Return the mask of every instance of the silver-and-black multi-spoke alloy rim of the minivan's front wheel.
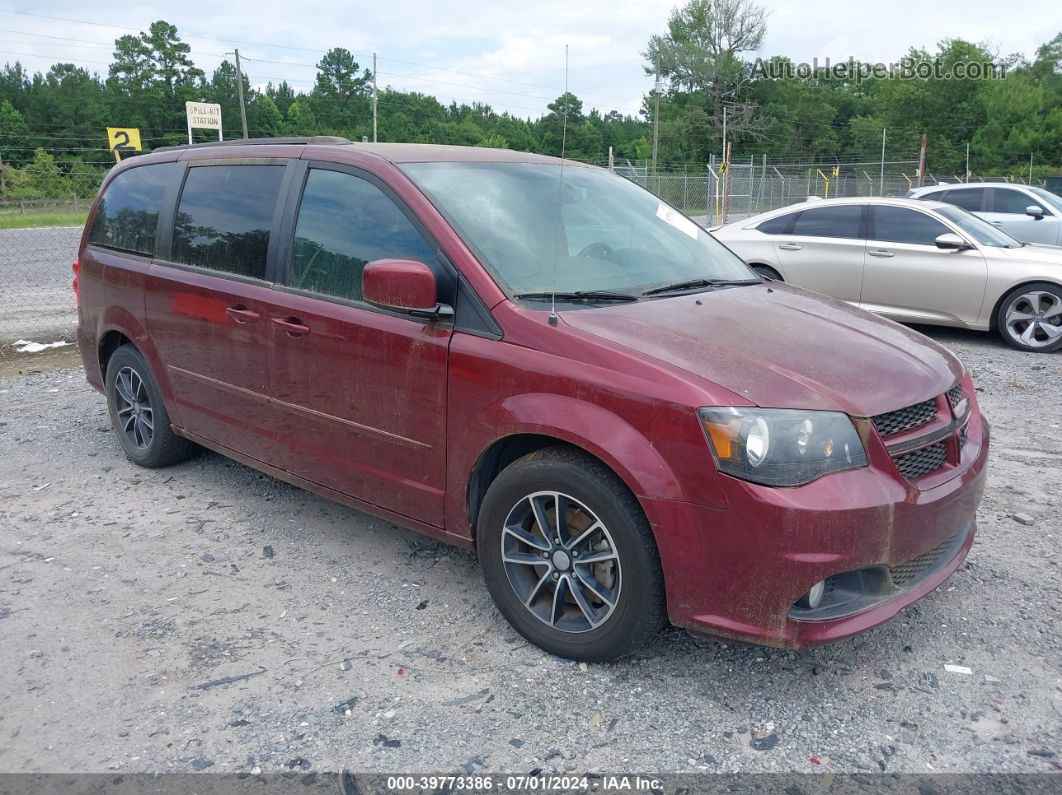
M 620 565 L 607 528 L 586 505 L 560 491 L 519 500 L 506 519 L 501 556 L 524 607 L 564 633 L 609 620 L 620 590 Z

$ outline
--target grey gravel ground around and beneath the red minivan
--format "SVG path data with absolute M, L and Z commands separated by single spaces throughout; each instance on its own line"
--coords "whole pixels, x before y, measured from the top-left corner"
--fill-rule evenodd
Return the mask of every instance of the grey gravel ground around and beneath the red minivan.
M 948 583 L 806 653 L 670 629 L 588 668 L 473 555 L 219 455 L 138 469 L 68 352 L 8 359 L 0 772 L 1058 771 L 1062 358 L 927 331 L 994 430 Z

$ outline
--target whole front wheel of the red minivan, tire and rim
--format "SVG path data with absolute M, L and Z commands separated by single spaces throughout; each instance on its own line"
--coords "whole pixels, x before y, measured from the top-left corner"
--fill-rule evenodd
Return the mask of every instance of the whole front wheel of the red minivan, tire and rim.
M 535 645 L 601 662 L 660 630 L 664 580 L 652 532 L 600 462 L 560 447 L 520 459 L 491 484 L 477 528 L 487 589 Z

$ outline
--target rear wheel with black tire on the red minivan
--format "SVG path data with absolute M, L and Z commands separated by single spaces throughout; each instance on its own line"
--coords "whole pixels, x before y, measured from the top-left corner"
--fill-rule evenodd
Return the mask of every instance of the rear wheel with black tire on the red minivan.
M 173 432 L 151 368 L 134 346 L 123 345 L 110 356 L 104 383 L 110 426 L 134 464 L 157 469 L 185 461 L 199 450 Z M 127 399 L 131 395 L 135 398 L 132 401 Z

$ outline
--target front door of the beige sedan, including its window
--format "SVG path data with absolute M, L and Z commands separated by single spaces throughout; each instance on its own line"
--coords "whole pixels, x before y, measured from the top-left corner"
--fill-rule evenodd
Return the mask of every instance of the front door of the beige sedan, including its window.
M 938 248 L 953 230 L 921 210 L 871 209 L 859 305 L 906 323 L 976 323 L 988 281 L 981 253 Z

